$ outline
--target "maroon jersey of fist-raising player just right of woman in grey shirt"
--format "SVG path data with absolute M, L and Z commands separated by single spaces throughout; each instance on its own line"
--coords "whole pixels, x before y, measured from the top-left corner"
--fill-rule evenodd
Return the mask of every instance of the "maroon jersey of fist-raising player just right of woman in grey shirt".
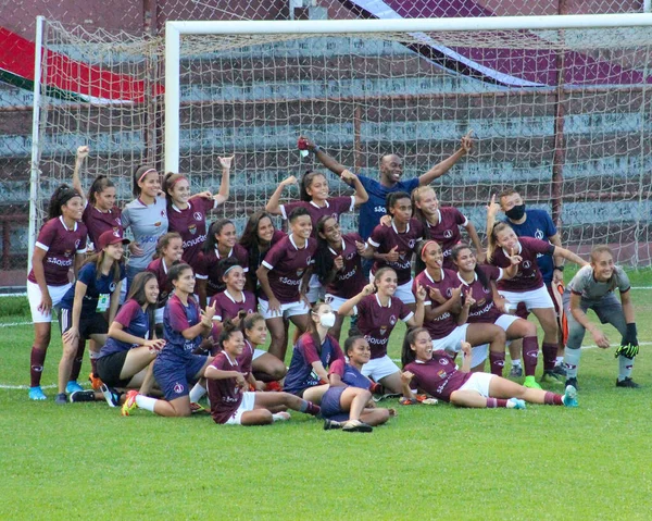
M 178 209 L 167 204 L 167 231 L 177 232 L 184 240 L 184 262 L 197 272 L 199 269 L 201 247 L 206 241 L 206 213 L 217 206 L 213 198 L 195 196 L 188 201 L 188 208 Z

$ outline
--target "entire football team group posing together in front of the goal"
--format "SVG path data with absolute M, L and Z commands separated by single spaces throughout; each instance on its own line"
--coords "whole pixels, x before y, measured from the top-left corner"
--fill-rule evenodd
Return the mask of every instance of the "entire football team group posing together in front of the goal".
M 379 406 L 392 396 L 419 407 L 577 407 L 587 332 L 599 348 L 614 347 L 615 385 L 638 387 L 630 284 L 609 246 L 586 258 L 564 248 L 548 212 L 527 208 L 517 187 L 482 206 L 481 234 L 440 203 L 431 183 L 473 153 L 472 133 L 413 178 L 393 153 L 371 178 L 310 138 L 298 146 L 323 169 L 280 182 L 240 236 L 228 218 L 211 219 L 229 198 L 234 157 L 218 159 L 216 193 L 192 194 L 184 174 L 140 166 L 134 199 L 120 209 L 111 178 L 84 187 L 92 151 L 79 147 L 32 257 L 29 398 L 47 399 L 40 381 L 55 317 L 55 401 L 106 401 L 123 415 L 210 412 L 216 423 L 262 425 L 291 410 L 326 430 L 371 432 L 397 414 Z M 351 195 L 333 197 L 336 179 Z M 292 185 L 299 199 L 284 202 Z M 358 233 L 340 227 L 344 213 L 356 215 Z M 564 278 L 568 264 L 576 273 Z M 400 362 L 388 355 L 392 333 L 403 335 L 399 321 Z M 90 390 L 78 383 L 86 350 Z

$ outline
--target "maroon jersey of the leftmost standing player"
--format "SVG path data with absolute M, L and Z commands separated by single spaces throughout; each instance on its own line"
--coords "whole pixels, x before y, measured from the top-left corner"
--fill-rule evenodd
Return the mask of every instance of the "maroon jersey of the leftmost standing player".
M 86 253 L 87 231 L 84 223 L 75 223 L 68 230 L 63 218 L 50 219 L 38 233 L 36 247 L 46 251 L 43 272 L 48 286 L 65 286 L 70 283 L 67 273 L 73 268 L 76 253 Z M 27 276 L 29 282 L 38 284 L 34 269 Z

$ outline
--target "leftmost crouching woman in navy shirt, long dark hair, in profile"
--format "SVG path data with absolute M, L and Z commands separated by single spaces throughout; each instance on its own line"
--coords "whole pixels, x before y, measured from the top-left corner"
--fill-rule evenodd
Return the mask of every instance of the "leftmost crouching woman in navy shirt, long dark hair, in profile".
M 102 393 L 111 407 L 117 406 L 114 387 L 139 387 L 143 395 L 152 388 L 152 362 L 165 346 L 154 331 L 158 299 L 156 275 L 149 271 L 138 273 L 109 328 L 109 338 L 98 359 L 98 374 L 106 386 Z

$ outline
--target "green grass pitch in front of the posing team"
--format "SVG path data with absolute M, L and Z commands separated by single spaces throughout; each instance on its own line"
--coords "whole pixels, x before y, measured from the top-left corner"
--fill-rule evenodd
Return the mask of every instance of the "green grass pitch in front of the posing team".
M 650 272 L 632 278 L 652 286 Z M 649 520 L 652 290 L 632 298 L 640 389 L 614 386 L 613 348 L 589 348 L 578 409 L 388 400 L 398 418 L 367 435 L 325 432 L 300 413 L 266 427 L 122 418 L 103 402 L 57 406 L 53 388 L 30 402 L 26 389 L 5 387 L 28 384 L 32 328 L 1 327 L 0 519 Z M 4 323 L 28 321 L 24 306 L 1 309 L 18 313 L 4 312 Z M 53 333 L 43 385 L 54 384 L 61 355 Z M 392 339 L 399 358 L 402 330 Z

